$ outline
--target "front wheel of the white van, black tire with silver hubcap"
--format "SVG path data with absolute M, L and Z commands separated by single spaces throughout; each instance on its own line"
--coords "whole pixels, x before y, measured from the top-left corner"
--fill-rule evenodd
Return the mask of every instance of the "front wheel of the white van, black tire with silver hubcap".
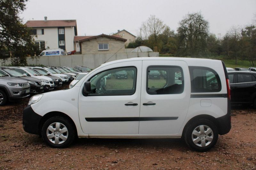
M 54 116 L 44 123 L 42 137 L 45 143 L 53 148 L 65 148 L 74 141 L 76 127 L 71 120 Z

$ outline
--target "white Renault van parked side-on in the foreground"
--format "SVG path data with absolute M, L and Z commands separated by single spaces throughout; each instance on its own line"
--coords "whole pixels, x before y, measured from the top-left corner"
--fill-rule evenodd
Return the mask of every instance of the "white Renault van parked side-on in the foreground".
M 156 70 L 160 78 L 149 78 Z M 115 78 L 120 71 L 127 76 Z M 231 129 L 227 69 L 219 60 L 195 58 L 104 63 L 70 89 L 31 97 L 23 128 L 55 148 L 67 147 L 76 136 L 183 137 L 196 151 L 207 151 Z

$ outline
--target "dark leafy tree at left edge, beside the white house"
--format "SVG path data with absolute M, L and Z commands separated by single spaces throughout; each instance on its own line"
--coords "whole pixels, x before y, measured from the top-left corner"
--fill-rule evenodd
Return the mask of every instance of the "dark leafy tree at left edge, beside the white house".
M 12 51 L 12 64 L 26 64 L 26 57 L 38 53 L 29 28 L 22 24 L 18 14 L 28 0 L 0 1 L 0 50 Z

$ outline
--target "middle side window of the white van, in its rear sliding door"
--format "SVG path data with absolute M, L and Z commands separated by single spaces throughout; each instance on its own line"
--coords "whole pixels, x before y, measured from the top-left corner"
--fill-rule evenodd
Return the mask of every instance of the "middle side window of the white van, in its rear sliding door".
M 178 66 L 150 66 L 147 69 L 147 93 L 180 94 L 184 91 L 183 77 Z

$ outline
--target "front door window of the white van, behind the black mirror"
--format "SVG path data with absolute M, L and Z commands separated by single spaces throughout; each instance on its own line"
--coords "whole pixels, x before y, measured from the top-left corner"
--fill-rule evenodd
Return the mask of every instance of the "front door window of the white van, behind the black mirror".
M 88 96 L 132 95 L 135 93 L 135 67 L 103 71 L 90 79 L 92 92 Z

